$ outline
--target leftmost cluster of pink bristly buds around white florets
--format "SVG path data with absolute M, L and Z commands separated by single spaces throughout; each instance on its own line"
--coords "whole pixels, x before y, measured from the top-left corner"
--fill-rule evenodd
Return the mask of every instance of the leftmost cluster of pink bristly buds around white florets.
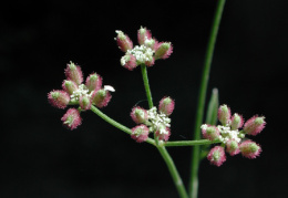
M 50 104 L 58 108 L 65 108 L 69 104 L 79 104 L 80 107 L 69 108 L 61 118 L 63 125 L 70 129 L 76 128 L 81 125 L 80 112 L 91 108 L 91 105 L 104 107 L 111 100 L 110 92 L 115 90 L 105 85 L 102 87 L 102 77 L 92 73 L 88 76 L 85 84 L 83 84 L 83 73 L 79 65 L 70 62 L 65 69 L 66 80 L 62 83 L 63 90 L 53 90 L 48 94 Z

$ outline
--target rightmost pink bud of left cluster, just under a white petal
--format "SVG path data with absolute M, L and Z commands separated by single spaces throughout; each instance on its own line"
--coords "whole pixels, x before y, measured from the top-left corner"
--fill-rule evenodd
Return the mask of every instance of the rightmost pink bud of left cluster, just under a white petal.
M 92 93 L 91 101 L 94 105 L 102 108 L 109 104 L 111 97 L 112 95 L 110 92 L 102 88 Z

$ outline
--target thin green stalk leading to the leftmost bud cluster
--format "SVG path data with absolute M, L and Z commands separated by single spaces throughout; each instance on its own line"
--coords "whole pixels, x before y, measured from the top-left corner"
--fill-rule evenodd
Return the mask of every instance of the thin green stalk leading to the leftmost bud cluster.
M 131 131 L 128 127 L 126 127 L 126 126 L 124 126 L 124 125 L 117 123 L 116 121 L 112 119 L 111 117 L 109 117 L 107 115 L 105 115 L 104 113 L 102 113 L 99 108 L 96 108 L 95 106 L 92 105 L 92 106 L 91 106 L 91 111 L 94 112 L 95 114 L 97 114 L 101 118 L 103 118 L 104 121 L 106 121 L 109 124 L 115 126 L 116 128 L 119 128 L 119 129 L 125 132 L 125 133 L 128 134 L 128 135 L 132 134 L 132 131 Z M 146 143 L 150 143 L 150 144 L 152 144 L 152 145 L 155 146 L 155 140 L 152 139 L 152 138 L 147 138 Z

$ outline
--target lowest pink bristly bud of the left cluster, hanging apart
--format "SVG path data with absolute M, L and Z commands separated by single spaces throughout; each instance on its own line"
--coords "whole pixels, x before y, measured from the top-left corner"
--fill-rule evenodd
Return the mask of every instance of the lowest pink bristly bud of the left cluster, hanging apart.
M 63 125 L 71 131 L 76 128 L 82 123 L 80 113 L 76 108 L 69 108 L 61 121 L 63 122 Z

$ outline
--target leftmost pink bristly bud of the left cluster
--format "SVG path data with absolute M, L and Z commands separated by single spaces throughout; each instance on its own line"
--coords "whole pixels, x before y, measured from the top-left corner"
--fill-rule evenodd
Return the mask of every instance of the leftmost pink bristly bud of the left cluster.
M 48 94 L 49 103 L 58 108 L 65 108 L 70 102 L 70 96 L 63 90 L 53 90 Z

